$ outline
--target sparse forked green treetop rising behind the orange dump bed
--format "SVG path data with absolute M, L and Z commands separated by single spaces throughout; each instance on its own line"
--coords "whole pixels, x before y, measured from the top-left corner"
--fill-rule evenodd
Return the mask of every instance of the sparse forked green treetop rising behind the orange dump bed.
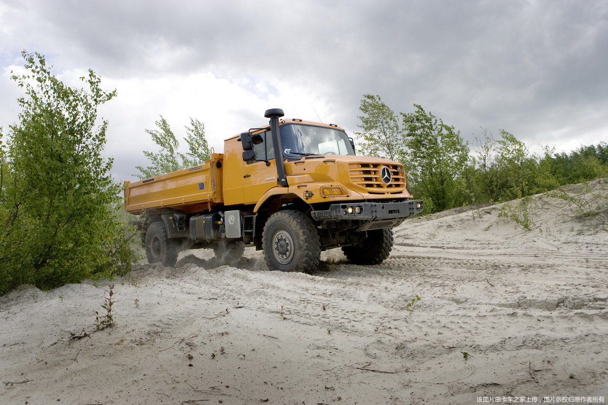
M 136 175 L 140 179 L 149 179 L 164 173 L 190 168 L 200 165 L 210 158 L 209 144 L 205 138 L 205 126 L 201 121 L 190 118 L 190 127 L 185 127 L 185 141 L 188 145 L 186 154 L 178 151 L 179 141 L 162 115 L 155 124 L 159 129 L 146 129 L 145 131 L 151 135 L 152 140 L 161 148 L 161 151 L 143 152 L 152 164 L 147 168 L 136 166 L 136 169 L 140 171 L 140 174 Z

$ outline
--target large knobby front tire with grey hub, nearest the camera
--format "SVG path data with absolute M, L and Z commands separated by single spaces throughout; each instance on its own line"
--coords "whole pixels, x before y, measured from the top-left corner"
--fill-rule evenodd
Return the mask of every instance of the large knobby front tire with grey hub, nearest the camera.
M 321 242 L 311 219 L 286 209 L 264 225 L 264 259 L 271 270 L 312 273 L 319 267 Z

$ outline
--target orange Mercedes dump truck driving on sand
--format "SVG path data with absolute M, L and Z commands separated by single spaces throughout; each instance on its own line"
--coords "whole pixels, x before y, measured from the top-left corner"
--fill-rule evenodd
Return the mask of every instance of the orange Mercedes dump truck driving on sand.
M 187 248 L 238 260 L 249 245 L 272 270 L 309 273 L 337 247 L 351 263 L 382 262 L 392 228 L 423 209 L 403 166 L 357 156 L 335 124 L 282 119 L 281 109 L 264 116 L 268 125 L 227 139 L 199 166 L 125 182 L 148 261 L 172 266 Z

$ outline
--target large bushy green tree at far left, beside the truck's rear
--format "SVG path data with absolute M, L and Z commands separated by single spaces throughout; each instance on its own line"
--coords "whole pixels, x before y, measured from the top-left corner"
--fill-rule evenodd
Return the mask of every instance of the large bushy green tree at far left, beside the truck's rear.
M 89 70 L 88 90 L 66 86 L 44 56 L 23 52 L 25 96 L 0 155 L 0 293 L 22 283 L 56 287 L 130 268 L 133 251 L 114 215 L 120 186 L 101 156 L 107 121 L 96 126 L 105 92 Z

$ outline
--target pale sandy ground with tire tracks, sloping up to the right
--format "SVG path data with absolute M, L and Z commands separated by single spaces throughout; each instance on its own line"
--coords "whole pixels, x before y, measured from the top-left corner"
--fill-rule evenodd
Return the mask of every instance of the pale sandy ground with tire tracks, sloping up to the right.
M 601 213 L 588 218 L 535 196 L 530 231 L 500 205 L 410 220 L 378 266 L 330 251 L 316 274 L 280 273 L 253 250 L 237 267 L 206 251 L 140 265 L 114 281 L 116 325 L 100 332 L 103 283 L 23 287 L 0 298 L 0 403 L 606 397 L 606 180 L 593 192 Z

